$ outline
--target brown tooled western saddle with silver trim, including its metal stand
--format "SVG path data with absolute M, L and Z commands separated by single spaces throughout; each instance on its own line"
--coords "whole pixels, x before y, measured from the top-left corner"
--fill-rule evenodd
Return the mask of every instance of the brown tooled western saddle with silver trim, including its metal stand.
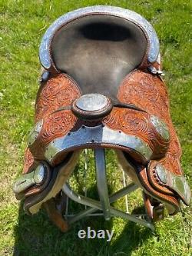
M 154 229 L 153 221 L 190 203 L 181 149 L 161 78 L 159 41 L 141 15 L 112 6 L 80 8 L 58 18 L 39 48 L 44 71 L 35 103 L 23 174 L 13 190 L 25 211 L 40 208 L 61 229 L 102 211 Z M 100 200 L 75 193 L 70 177 L 84 148 L 93 148 Z M 104 148 L 113 148 L 133 181 L 108 196 Z M 141 188 L 147 218 L 111 206 Z M 61 192 L 62 191 L 62 192 Z M 64 196 L 88 206 L 63 217 Z M 59 202 L 59 203 L 58 203 Z

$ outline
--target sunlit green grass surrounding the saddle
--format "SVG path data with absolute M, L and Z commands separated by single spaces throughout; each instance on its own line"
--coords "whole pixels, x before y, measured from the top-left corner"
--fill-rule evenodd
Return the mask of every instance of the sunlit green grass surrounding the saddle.
M 155 234 L 118 218 L 109 222 L 89 218 L 74 224 L 68 234 L 61 234 L 44 212 L 27 216 L 12 193 L 12 182 L 22 171 L 26 138 L 33 125 L 41 36 L 55 18 L 87 5 L 119 5 L 139 12 L 154 25 L 161 40 L 171 115 L 183 148 L 181 162 L 187 180 L 191 180 L 192 54 L 191 5 L 188 1 L 0 0 L 0 256 L 191 255 L 191 208 L 183 208 L 174 218 L 167 216 L 157 223 Z M 108 159 L 112 190 L 118 186 L 114 176 L 118 166 L 111 152 Z M 74 182 L 77 183 L 82 169 L 80 162 Z M 91 182 L 89 191 L 94 194 Z M 131 195 L 131 209 L 137 208 L 139 196 L 140 192 Z M 123 207 L 123 201 L 118 207 Z M 114 229 L 111 243 L 98 239 L 80 240 L 78 230 L 88 225 L 96 230 Z

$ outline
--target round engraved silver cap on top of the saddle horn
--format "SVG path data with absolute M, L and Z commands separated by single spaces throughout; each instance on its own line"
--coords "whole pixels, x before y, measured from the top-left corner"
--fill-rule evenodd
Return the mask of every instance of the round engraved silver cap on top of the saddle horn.
M 98 93 L 83 95 L 75 102 L 82 111 L 99 111 L 108 105 L 108 98 Z

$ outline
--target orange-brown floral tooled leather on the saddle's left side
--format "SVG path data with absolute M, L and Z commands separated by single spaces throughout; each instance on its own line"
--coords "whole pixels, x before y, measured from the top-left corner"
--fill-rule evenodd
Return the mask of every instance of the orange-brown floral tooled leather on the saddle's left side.
M 45 146 L 73 128 L 76 118 L 71 110 L 57 110 L 71 105 L 71 102 L 80 95 L 78 85 L 68 75 L 58 74 L 41 85 L 35 103 L 35 122 L 43 119 L 43 127 L 35 143 L 28 146 L 25 151 L 25 172 L 28 172 L 30 167 L 30 158 L 43 160 Z

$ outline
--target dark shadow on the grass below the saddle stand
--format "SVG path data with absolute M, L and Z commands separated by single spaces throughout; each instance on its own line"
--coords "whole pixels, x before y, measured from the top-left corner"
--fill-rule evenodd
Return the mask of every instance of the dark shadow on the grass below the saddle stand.
M 110 221 L 104 221 L 102 217 L 86 218 L 73 224 L 70 231 L 63 234 L 51 224 L 44 211 L 28 216 L 21 204 L 18 225 L 15 226 L 13 256 L 129 256 L 152 235 L 149 229 L 127 221 L 124 230 L 115 241 L 78 238 L 78 231 L 87 230 L 88 227 L 95 231 L 99 229 L 111 231 L 113 218 Z

